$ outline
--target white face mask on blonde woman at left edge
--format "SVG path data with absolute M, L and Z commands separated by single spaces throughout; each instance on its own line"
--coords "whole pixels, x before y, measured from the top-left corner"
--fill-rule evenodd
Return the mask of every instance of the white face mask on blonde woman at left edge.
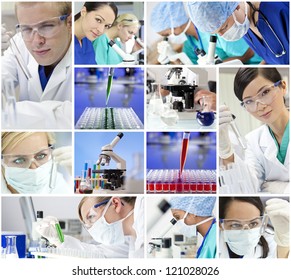
M 18 193 L 42 193 L 49 187 L 53 161 L 41 165 L 36 169 L 4 166 L 7 183 Z

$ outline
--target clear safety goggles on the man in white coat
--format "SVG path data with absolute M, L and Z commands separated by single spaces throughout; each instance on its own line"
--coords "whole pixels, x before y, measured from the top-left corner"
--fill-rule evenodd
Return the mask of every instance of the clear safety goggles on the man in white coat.
M 49 39 L 60 31 L 59 26 L 67 19 L 68 16 L 69 15 L 53 17 L 33 25 L 17 24 L 16 31 L 20 32 L 23 40 L 27 42 L 33 40 L 34 31 L 36 31 L 39 36 Z

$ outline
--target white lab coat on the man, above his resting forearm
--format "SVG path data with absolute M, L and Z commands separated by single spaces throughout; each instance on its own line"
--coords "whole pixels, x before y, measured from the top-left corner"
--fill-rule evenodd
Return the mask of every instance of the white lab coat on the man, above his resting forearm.
M 24 63 L 27 65 L 32 78 L 27 80 L 17 60 L 9 47 L 1 57 L 2 78 L 12 79 L 15 86 L 19 85 L 18 101 L 71 101 L 72 100 L 72 46 L 69 47 L 66 55 L 58 63 L 42 91 L 38 66 L 39 64 L 27 50 L 20 33 L 13 36 L 13 39 L 21 52 Z

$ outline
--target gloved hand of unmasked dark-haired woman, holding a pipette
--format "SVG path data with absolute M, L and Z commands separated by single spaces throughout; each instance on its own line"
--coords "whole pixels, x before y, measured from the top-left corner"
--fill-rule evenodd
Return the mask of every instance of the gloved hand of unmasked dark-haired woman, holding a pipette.
M 219 107 L 219 157 L 222 159 L 227 159 L 233 154 L 228 135 L 229 123 L 232 120 L 233 117 L 228 107 L 221 105 Z

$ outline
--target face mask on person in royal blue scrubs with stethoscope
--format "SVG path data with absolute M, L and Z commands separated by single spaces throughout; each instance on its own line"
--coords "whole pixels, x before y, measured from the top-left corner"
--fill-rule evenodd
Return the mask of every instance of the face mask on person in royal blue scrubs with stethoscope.
M 248 4 L 245 3 L 245 20 L 243 23 L 239 23 L 236 20 L 235 14 L 232 14 L 234 24 L 230 27 L 221 37 L 226 41 L 237 41 L 241 39 L 250 28 L 250 21 L 248 19 Z

